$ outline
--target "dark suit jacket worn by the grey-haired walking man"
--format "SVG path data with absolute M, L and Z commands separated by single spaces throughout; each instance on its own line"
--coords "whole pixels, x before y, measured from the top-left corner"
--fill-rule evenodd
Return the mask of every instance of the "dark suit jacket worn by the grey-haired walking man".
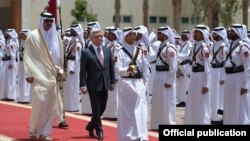
M 86 48 L 81 55 L 80 87 L 87 86 L 89 92 L 106 90 L 115 84 L 115 71 L 109 48 L 102 47 L 104 66 L 100 64 L 94 47 Z

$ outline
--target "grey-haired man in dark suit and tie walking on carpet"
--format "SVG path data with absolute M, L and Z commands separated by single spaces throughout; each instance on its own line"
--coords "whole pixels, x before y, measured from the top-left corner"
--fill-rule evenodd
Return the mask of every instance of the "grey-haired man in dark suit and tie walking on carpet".
M 94 28 L 90 33 L 92 45 L 82 52 L 80 70 L 81 93 L 89 93 L 91 121 L 86 126 L 89 136 L 103 140 L 101 116 L 106 108 L 108 89 L 115 88 L 115 72 L 110 49 L 102 46 L 103 32 Z

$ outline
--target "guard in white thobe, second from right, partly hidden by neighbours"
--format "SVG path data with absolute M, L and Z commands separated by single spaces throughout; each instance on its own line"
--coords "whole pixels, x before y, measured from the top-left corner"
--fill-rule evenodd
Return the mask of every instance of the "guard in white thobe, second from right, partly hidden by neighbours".
M 212 31 L 213 46 L 211 48 L 211 103 L 212 103 L 212 121 L 211 124 L 221 124 L 222 115 L 218 110 L 222 110 L 223 90 L 225 82 L 224 60 L 228 51 L 227 31 L 224 27 L 216 27 Z

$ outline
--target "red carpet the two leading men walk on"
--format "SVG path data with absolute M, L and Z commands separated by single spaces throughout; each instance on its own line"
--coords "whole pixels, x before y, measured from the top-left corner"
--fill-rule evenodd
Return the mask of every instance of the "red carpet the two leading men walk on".
M 3 102 L 5 103 L 5 102 Z M 19 141 L 29 141 L 28 139 L 28 125 L 30 117 L 30 109 L 7 105 L 0 103 L 0 134 L 15 138 Z M 15 104 L 18 105 L 18 104 Z M 22 106 L 22 104 L 19 104 Z M 27 106 L 26 106 L 27 107 Z M 95 138 L 89 138 L 88 133 L 84 129 L 88 121 L 84 120 L 86 116 L 82 116 L 82 119 L 77 119 L 67 116 L 67 122 L 69 127 L 66 129 L 58 128 L 57 121 L 54 122 L 52 138 L 53 140 L 60 141 L 93 141 Z M 117 128 L 105 126 L 104 140 L 117 141 Z M 158 138 L 149 136 L 150 141 L 158 141 Z

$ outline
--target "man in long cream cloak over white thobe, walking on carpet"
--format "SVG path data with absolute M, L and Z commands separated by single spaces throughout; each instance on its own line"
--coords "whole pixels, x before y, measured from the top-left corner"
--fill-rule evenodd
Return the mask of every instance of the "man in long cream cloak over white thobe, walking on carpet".
M 42 12 L 39 28 L 28 34 L 24 50 L 26 80 L 31 85 L 32 109 L 29 124 L 31 140 L 37 135 L 50 141 L 52 119 L 63 113 L 59 84 L 63 74 L 64 51 L 61 35 L 56 31 L 55 18 Z

